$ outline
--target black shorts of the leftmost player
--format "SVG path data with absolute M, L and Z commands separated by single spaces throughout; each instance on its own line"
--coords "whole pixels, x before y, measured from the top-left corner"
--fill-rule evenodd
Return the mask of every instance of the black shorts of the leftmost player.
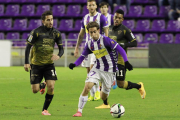
M 57 80 L 54 64 L 38 66 L 31 65 L 30 82 L 31 84 L 41 83 L 42 79 Z

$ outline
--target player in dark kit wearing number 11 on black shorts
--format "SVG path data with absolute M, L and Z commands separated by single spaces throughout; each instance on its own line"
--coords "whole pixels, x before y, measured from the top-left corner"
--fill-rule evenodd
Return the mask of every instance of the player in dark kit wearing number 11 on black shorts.
M 122 24 L 124 20 L 124 11 L 118 9 L 114 14 L 114 25 L 109 27 L 109 37 L 124 48 L 127 52 L 128 47 L 136 47 L 137 41 L 131 30 Z M 118 72 L 116 74 L 117 85 L 119 88 L 124 88 L 126 90 L 136 88 L 139 90 L 141 98 L 144 99 L 146 96 L 146 91 L 142 82 L 132 83 L 130 81 L 125 81 L 126 69 L 122 56 L 118 55 Z

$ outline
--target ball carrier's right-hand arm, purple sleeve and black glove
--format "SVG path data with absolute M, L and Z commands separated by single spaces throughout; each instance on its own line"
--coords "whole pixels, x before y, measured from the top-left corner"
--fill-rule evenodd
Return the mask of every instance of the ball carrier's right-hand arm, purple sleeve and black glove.
M 133 66 L 129 63 L 128 59 L 127 59 L 127 55 L 126 55 L 126 52 L 125 50 L 117 44 L 116 46 L 116 51 L 118 51 L 119 54 L 121 54 L 121 56 L 123 57 L 124 59 L 124 62 L 125 62 L 125 67 L 130 71 L 130 70 L 133 70 Z

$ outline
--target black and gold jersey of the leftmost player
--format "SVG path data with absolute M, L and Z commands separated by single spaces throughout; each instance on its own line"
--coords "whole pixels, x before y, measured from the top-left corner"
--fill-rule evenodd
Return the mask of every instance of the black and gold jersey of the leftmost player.
M 55 28 L 47 30 L 44 26 L 40 26 L 31 31 L 27 42 L 33 45 L 31 50 L 31 64 L 52 64 L 51 57 L 55 42 L 57 45 L 62 45 L 61 33 Z

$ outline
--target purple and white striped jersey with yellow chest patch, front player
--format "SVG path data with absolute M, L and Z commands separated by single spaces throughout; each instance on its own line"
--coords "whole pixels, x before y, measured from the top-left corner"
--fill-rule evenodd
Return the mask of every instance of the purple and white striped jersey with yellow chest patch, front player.
M 118 50 L 116 49 L 118 46 Z M 118 43 L 106 36 L 100 36 L 98 40 L 89 40 L 82 52 L 82 56 L 94 53 L 96 63 L 94 67 L 101 71 L 116 72 L 117 71 L 117 51 L 120 52 L 127 61 L 127 56 L 123 48 Z

